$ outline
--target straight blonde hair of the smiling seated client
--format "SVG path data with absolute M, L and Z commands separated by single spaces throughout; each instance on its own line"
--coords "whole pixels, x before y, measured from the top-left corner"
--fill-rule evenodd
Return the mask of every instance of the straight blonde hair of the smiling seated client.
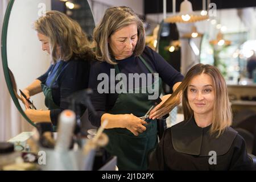
M 213 122 L 210 128 L 210 134 L 216 133 L 216 138 L 219 137 L 226 127 L 232 124 L 232 110 L 229 104 L 228 89 L 224 77 L 220 71 L 212 65 L 197 64 L 189 69 L 184 80 L 179 87 L 172 94 L 172 97 L 179 95 L 182 90 L 182 106 L 184 112 L 184 119 L 188 121 L 193 117 L 193 110 L 188 102 L 188 85 L 193 77 L 201 75 L 202 73 L 209 75 L 213 80 L 215 103 L 213 107 Z

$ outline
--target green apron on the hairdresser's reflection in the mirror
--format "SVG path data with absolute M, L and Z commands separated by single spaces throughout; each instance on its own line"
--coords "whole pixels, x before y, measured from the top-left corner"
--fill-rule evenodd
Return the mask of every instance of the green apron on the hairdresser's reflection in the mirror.
M 60 63 L 59 68 L 57 69 L 57 72 L 54 76 L 54 78 L 51 81 L 51 84 L 49 86 L 46 85 L 46 81 L 41 82 L 42 91 L 44 93 L 45 99 L 44 104 L 48 108 L 48 110 L 51 109 L 59 109 L 60 106 L 56 105 L 52 98 L 52 84 L 56 81 L 56 78 L 60 75 L 61 69 L 62 69 L 63 63 Z M 52 126 L 53 132 L 55 132 L 57 129 L 56 126 Z

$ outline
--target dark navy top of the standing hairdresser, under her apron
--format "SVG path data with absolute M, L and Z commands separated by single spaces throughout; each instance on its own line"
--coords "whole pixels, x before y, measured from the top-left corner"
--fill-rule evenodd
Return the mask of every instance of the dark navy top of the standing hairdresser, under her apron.
M 142 56 L 153 71 L 155 73 L 159 73 L 159 77 L 162 78 L 166 84 L 171 86 L 171 88 L 176 84 L 176 82 L 183 80 L 183 75 L 177 72 L 170 64 L 167 63 L 166 60 L 163 59 L 162 56 L 151 48 L 146 46 Z M 129 80 L 129 73 L 150 73 L 138 56 L 130 56 L 123 60 L 117 60 L 117 63 L 119 71 L 127 76 L 127 82 Z M 110 92 L 110 79 L 113 78 L 110 77 L 110 69 L 114 69 L 114 65 L 101 61 L 94 62 L 90 69 L 89 88 L 93 89 L 91 101 L 97 111 L 97 115 L 93 115 L 93 113 L 89 111 L 89 120 L 92 125 L 96 127 L 100 126 L 102 115 L 108 113 L 108 111 L 112 109 L 118 97 L 118 93 Z M 109 77 L 109 93 L 98 93 L 98 84 L 102 82 L 102 80 L 97 80 L 100 73 L 106 73 Z M 115 84 L 117 84 L 117 82 L 115 82 Z

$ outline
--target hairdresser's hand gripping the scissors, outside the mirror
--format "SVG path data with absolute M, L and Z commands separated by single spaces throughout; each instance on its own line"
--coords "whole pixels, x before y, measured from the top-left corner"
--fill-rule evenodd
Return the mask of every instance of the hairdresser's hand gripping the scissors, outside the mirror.
M 139 133 L 143 133 L 146 131 L 146 127 L 143 125 L 147 125 L 147 122 L 136 117 L 133 114 L 124 114 L 125 120 L 125 128 L 130 130 L 135 136 L 138 136 Z

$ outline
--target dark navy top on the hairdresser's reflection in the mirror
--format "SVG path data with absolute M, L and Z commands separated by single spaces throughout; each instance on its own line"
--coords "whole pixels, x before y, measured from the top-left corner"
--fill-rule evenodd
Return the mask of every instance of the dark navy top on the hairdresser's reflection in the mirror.
M 53 101 L 57 106 L 60 106 L 59 109 L 50 110 L 52 125 L 57 125 L 57 119 L 61 111 L 69 109 L 69 104 L 65 101 L 65 98 L 78 90 L 88 88 L 90 62 L 81 59 L 71 59 L 62 62 L 63 67 L 60 75 L 51 86 Z M 51 82 L 55 75 L 54 73 L 57 71 L 54 67 L 55 64 L 52 64 L 48 71 L 37 79 L 41 82 L 46 81 L 46 84 L 49 86 L 49 82 Z M 85 109 L 86 107 L 81 106 L 82 111 L 85 111 Z

